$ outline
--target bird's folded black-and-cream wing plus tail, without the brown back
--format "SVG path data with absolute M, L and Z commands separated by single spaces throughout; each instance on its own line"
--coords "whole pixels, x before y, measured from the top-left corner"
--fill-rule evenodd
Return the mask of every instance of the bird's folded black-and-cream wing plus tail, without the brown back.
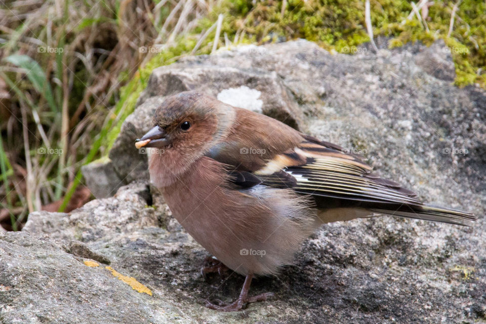
M 379 177 L 359 155 L 338 145 L 302 135 L 294 148 L 275 154 L 256 170 L 233 174 L 242 188 L 263 184 L 310 195 L 321 211 L 353 208 L 401 217 L 471 225 L 475 217 L 459 210 L 424 204 L 417 194 L 395 181 Z M 260 181 L 259 181 L 260 180 Z M 364 215 L 367 215 L 366 212 Z M 326 217 L 326 216 L 325 216 Z M 354 218 L 352 217 L 352 218 Z M 333 216 L 335 219 L 335 216 Z

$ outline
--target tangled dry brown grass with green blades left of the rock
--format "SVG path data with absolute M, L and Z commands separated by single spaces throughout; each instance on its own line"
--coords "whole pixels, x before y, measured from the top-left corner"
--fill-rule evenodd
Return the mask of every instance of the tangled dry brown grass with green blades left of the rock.
M 5 228 L 61 205 L 80 166 L 104 155 L 100 134 L 117 121 L 120 87 L 210 8 L 203 0 L 0 1 Z M 89 154 L 94 143 L 99 149 Z M 73 199 L 88 199 L 83 192 Z

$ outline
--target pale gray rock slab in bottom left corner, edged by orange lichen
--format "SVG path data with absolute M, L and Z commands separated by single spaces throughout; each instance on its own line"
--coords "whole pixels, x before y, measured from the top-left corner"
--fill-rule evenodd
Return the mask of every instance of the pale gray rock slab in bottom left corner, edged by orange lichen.
M 103 267 L 88 267 L 48 238 L 0 233 L 0 322 L 164 322 L 153 298 Z M 168 305 L 170 309 L 170 305 Z

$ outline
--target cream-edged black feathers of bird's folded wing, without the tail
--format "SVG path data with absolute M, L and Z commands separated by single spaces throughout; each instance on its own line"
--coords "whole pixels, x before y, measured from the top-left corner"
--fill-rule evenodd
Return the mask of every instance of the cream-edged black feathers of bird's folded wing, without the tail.
M 263 184 L 292 188 L 318 197 L 348 200 L 346 206 L 351 201 L 359 202 L 358 205 L 363 207 L 367 201 L 421 204 L 413 191 L 372 173 L 372 168 L 361 156 L 349 154 L 337 145 L 310 136 L 304 138 L 295 148 L 277 154 L 263 168 L 254 171 Z

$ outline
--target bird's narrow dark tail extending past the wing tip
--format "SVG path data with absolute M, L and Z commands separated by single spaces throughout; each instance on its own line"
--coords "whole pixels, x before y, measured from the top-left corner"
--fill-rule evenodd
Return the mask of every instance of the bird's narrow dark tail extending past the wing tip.
M 477 218 L 468 212 L 463 212 L 449 207 L 424 204 L 420 206 L 403 205 L 398 210 L 370 209 L 380 214 L 400 216 L 407 218 L 423 219 L 442 223 L 450 223 L 464 226 L 472 226 Z

